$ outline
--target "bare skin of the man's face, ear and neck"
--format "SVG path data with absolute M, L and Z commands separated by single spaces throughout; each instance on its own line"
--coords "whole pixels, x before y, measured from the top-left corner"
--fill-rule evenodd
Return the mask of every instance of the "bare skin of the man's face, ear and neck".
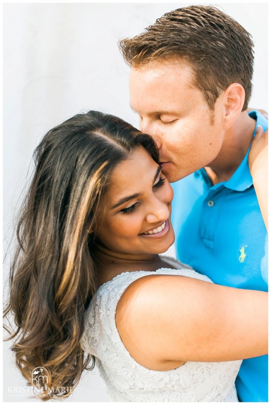
M 191 67 L 180 61 L 131 69 L 131 107 L 140 117 L 140 130 L 155 139 L 170 182 L 204 166 L 222 175 L 232 174 L 255 127 L 255 121 L 241 113 L 242 105 L 236 118 L 229 120 L 231 97 L 226 92 L 215 103 L 212 122 L 204 96 L 192 80 Z

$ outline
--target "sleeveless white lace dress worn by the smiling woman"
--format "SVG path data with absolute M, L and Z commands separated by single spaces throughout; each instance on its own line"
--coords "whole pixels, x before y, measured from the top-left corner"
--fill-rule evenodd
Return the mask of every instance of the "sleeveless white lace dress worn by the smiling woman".
M 97 290 L 87 312 L 83 349 L 96 365 L 115 402 L 238 402 L 235 378 L 241 361 L 186 362 L 168 371 L 149 370 L 138 364 L 122 343 L 115 323 L 118 300 L 136 279 L 150 274 L 173 274 L 211 280 L 179 261 L 163 259 L 178 270 L 125 272 Z

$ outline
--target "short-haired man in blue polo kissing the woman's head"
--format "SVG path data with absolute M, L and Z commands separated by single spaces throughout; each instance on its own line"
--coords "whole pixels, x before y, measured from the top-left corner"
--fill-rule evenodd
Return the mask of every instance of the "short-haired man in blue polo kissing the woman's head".
M 174 184 L 177 257 L 214 282 L 267 291 L 267 232 L 248 166 L 258 111 L 248 114 L 253 42 L 214 7 L 165 14 L 120 41 L 131 106 Z M 244 360 L 240 401 L 268 401 L 267 356 Z

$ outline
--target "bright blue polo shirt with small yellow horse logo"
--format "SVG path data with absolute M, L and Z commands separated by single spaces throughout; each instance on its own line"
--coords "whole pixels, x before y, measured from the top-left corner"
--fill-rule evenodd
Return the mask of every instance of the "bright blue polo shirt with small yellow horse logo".
M 261 113 L 249 115 L 267 129 Z M 174 183 L 171 218 L 179 260 L 217 284 L 267 291 L 267 232 L 248 154 L 228 181 L 212 185 L 201 169 Z M 236 379 L 240 401 L 268 401 L 267 366 L 267 355 L 242 362 Z

